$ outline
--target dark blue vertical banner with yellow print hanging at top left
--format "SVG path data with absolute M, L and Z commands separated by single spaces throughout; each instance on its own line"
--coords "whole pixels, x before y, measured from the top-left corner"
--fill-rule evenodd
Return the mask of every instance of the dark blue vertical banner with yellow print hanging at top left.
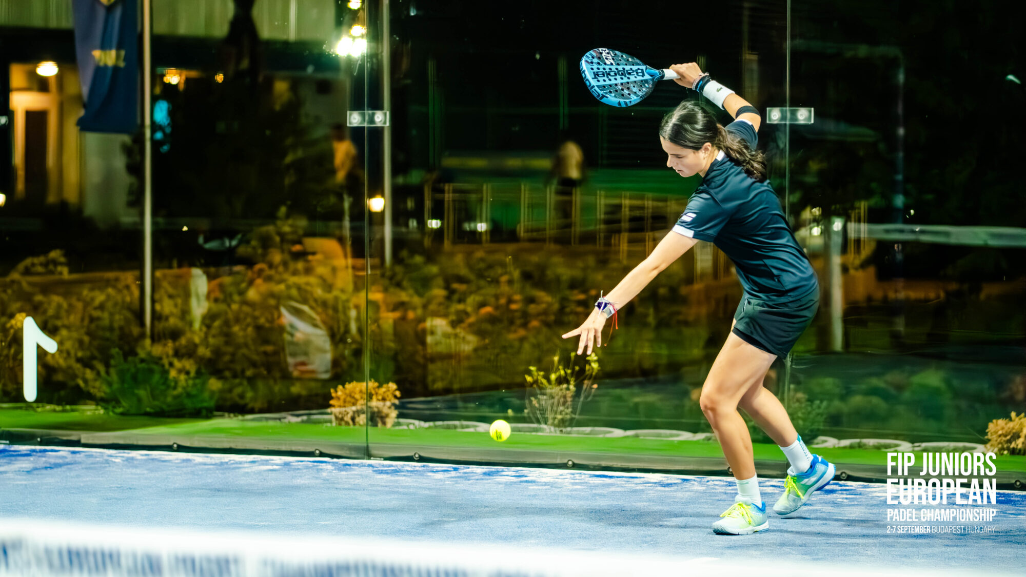
M 86 132 L 131 134 L 139 127 L 136 0 L 73 0 L 75 53 Z

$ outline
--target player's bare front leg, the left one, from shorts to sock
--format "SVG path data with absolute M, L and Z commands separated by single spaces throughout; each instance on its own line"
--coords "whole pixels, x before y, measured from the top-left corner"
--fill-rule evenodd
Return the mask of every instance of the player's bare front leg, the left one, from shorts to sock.
M 702 386 L 699 406 L 719 439 L 735 478 L 755 475 L 752 439 L 738 413 L 738 405 L 749 389 L 755 385 L 761 387 L 775 358 L 777 355 L 757 349 L 731 333 Z

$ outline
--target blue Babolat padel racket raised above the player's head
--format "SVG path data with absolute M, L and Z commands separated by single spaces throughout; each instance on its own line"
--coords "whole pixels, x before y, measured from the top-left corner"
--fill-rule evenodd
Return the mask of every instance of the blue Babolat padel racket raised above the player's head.
M 672 70 L 657 70 L 634 56 L 595 48 L 581 59 L 581 76 L 595 98 L 609 106 L 631 106 L 652 93 L 660 80 L 680 78 Z

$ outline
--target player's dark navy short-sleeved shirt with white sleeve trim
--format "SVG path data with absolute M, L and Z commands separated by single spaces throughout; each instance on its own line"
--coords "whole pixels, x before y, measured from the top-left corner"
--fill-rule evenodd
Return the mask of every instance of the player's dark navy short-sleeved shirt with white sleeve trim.
M 726 130 L 755 150 L 758 136 L 750 122 L 735 120 Z M 723 151 L 709 165 L 673 231 L 715 244 L 734 261 L 738 279 L 752 298 L 790 301 L 819 286 L 768 181 L 756 182 Z

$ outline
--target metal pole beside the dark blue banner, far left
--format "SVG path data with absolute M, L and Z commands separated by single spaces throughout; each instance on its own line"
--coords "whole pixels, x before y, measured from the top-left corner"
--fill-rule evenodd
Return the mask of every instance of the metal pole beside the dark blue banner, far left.
M 150 28 L 153 20 L 152 0 L 143 1 L 143 325 L 146 337 L 153 338 L 153 125 L 150 123 L 153 78 L 151 67 Z

